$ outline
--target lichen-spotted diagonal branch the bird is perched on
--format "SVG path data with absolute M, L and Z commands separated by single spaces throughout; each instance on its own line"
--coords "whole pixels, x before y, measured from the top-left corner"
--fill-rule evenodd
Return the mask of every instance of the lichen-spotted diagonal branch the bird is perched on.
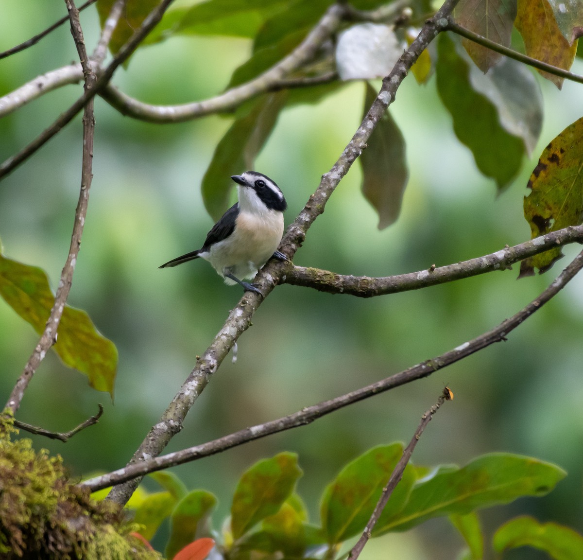
M 378 121 L 380 121 L 384 111 L 395 99 L 396 90 L 401 85 L 403 79 L 405 79 L 410 67 L 412 67 L 424 48 L 440 32 L 441 25 L 447 21 L 444 17 L 451 13 L 451 10 L 454 9 L 457 2 L 458 0 L 445 1 L 437 13 L 431 19 L 427 20 L 419 36 L 417 36 L 416 40 L 401 55 L 394 69 L 383 80 L 382 88 L 377 99 L 374 101 L 366 117 L 364 117 L 363 122 L 352 140 L 346 146 L 332 169 L 322 176 L 322 181 L 317 190 L 311 195 L 304 209 L 300 212 L 300 215 L 287 228 L 287 232 L 279 247 L 280 250 L 285 252 L 287 257 L 292 257 L 298 247 L 301 246 L 308 228 L 324 211 L 324 206 L 328 198 L 342 177 L 348 172 L 350 166 L 356 161 L 356 158 L 364 149 L 368 137 L 373 132 Z M 280 282 L 288 265 L 289 263 L 287 262 L 275 262 L 272 260 L 255 277 L 254 282 L 260 287 L 263 298 L 268 296 L 274 286 Z M 139 463 L 136 463 L 137 461 L 159 456 L 174 435 L 180 432 L 188 411 L 205 389 L 210 381 L 210 377 L 219 368 L 223 359 L 229 353 L 229 350 L 237 342 L 240 335 L 250 326 L 251 318 L 263 298 L 256 293 L 247 292 L 241 298 L 238 305 L 229 313 L 229 317 L 224 323 L 223 328 L 216 335 L 215 340 L 206 349 L 201 359 L 198 360 L 195 368 L 182 384 L 180 391 L 178 391 L 170 405 L 168 405 L 160 421 L 152 426 L 152 429 L 134 453 L 129 463 L 132 465 L 132 468 L 139 468 Z M 130 481 L 130 478 L 132 477 L 124 479 L 129 481 L 126 484 L 114 488 L 108 498 L 117 503 L 127 502 L 139 484 L 139 480 Z

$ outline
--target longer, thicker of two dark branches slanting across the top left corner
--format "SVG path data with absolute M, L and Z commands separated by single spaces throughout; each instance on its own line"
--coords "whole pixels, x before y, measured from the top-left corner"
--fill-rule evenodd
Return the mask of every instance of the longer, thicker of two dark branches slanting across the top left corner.
M 152 12 L 149 13 L 146 19 L 143 20 L 141 26 L 136 29 L 134 34 L 132 34 L 132 36 L 128 39 L 127 43 L 125 43 L 124 46 L 120 48 L 114 59 L 100 74 L 99 78 L 97 78 L 97 81 L 94 83 L 93 87 L 87 89 L 85 93 L 71 105 L 71 107 L 62 113 L 50 127 L 41 132 L 41 134 L 39 134 L 32 142 L 30 142 L 29 145 L 25 146 L 22 150 L 20 150 L 20 152 L 16 153 L 16 155 L 9 157 L 0 165 L 0 179 L 15 170 L 16 167 L 18 167 L 21 163 L 33 155 L 34 152 L 41 148 L 45 142 L 57 134 L 61 128 L 71 122 L 73 117 L 75 117 L 75 115 L 79 113 L 79 111 L 85 107 L 87 103 L 89 103 L 89 100 L 96 96 L 97 93 L 99 93 L 107 86 L 107 83 L 110 81 L 111 76 L 113 76 L 117 68 L 131 56 L 138 45 L 142 42 L 143 38 L 146 37 L 146 35 L 154 28 L 160 19 L 162 19 L 164 12 L 173 1 L 174 0 L 162 0 L 159 5 L 157 5 L 156 8 L 154 8 Z

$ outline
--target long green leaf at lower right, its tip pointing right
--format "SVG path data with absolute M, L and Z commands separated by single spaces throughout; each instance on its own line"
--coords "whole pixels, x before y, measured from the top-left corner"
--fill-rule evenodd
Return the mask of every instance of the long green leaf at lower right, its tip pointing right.
M 566 474 L 556 465 L 531 457 L 483 455 L 463 468 L 437 470 L 433 476 L 417 481 L 405 508 L 379 531 L 405 531 L 433 517 L 466 515 L 521 496 L 542 496 Z

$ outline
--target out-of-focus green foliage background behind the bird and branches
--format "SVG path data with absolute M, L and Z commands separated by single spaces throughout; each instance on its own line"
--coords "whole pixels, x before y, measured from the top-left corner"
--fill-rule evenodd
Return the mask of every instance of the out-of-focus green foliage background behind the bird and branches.
M 4 2 L 0 48 L 26 40 L 64 13 L 59 2 Z M 85 10 L 82 24 L 87 44 L 93 45 L 99 33 L 96 10 Z M 114 83 L 150 103 L 204 99 L 227 85 L 251 51 L 245 38 L 175 37 L 139 50 Z M 0 61 L 0 95 L 76 58 L 70 32 L 61 27 L 36 47 Z M 581 73 L 581 66 L 573 71 Z M 529 175 L 543 147 L 583 113 L 581 86 L 566 82 L 558 92 L 537 78 L 545 100 L 542 135 L 532 160 L 498 196 L 494 182 L 476 170 L 469 150 L 455 139 L 451 118 L 438 100 L 436 79 L 425 86 L 406 79 L 391 107 L 405 136 L 410 169 L 400 218 L 378 231 L 377 215 L 360 194 L 360 169 L 354 166 L 308 232 L 296 264 L 389 275 L 457 262 L 528 239 L 522 198 Z M 47 127 L 81 88 L 59 89 L 0 120 L 2 160 Z M 255 169 L 285 193 L 286 223 L 342 152 L 360 122 L 362 105 L 362 86 L 351 84 L 318 105 L 300 104 L 280 115 Z M 146 124 L 121 117 L 98 98 L 96 121 L 93 187 L 69 303 L 86 310 L 117 346 L 115 405 L 51 355 L 18 414 L 31 424 L 68 431 L 103 401 L 106 413 L 99 424 L 66 445 L 33 437 L 36 447 L 60 453 L 78 476 L 127 462 L 241 295 L 238 288 L 223 285 L 205 262 L 157 269 L 174 254 L 198 247 L 212 226 L 200 185 L 232 118 Z M 43 268 L 53 289 L 68 251 L 78 197 L 80 131 L 78 117 L 0 184 L 6 256 Z M 558 266 L 577 250 L 567 247 Z M 237 363 L 223 364 L 168 450 L 294 412 L 454 348 L 515 313 L 559 269 L 519 282 L 517 272 L 371 300 L 280 286 L 238 341 Z M 415 462 L 467 463 L 494 451 L 552 461 L 568 477 L 546 498 L 522 499 L 519 511 L 580 530 L 582 282 L 576 278 L 504 344 L 427 380 L 175 472 L 188 488 L 212 491 L 219 498 L 216 515 L 223 519 L 236 481 L 250 462 L 283 450 L 297 452 L 307 473 L 298 491 L 315 516 L 325 482 L 365 449 L 408 439 L 447 382 L 455 401 L 431 422 Z M 33 329 L 0 302 L 3 396 L 36 342 Z M 499 527 L 516 508 L 489 510 L 483 517 L 486 531 Z M 166 542 L 167 527 L 159 533 L 157 538 Z M 448 523 L 433 520 L 422 530 L 371 542 L 362 558 L 389 558 L 390 547 L 394 558 L 439 560 L 451 558 L 461 546 Z

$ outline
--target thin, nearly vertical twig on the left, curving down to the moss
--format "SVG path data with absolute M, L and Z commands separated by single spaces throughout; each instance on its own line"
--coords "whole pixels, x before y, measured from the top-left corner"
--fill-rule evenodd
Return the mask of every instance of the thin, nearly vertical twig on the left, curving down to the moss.
M 71 33 L 75 40 L 75 46 L 79 53 L 79 60 L 83 67 L 85 75 L 85 91 L 92 88 L 96 82 L 96 75 L 89 64 L 87 50 L 85 48 L 85 39 L 83 30 L 79 22 L 79 11 L 75 7 L 73 0 L 65 0 L 69 10 L 69 19 L 71 19 Z M 81 246 L 81 237 L 83 235 L 83 226 L 85 226 L 85 216 L 87 215 L 87 204 L 89 202 L 89 190 L 93 179 L 92 162 L 93 162 L 93 138 L 95 129 L 95 119 L 93 115 L 93 98 L 90 98 L 83 111 L 83 164 L 81 170 L 81 188 L 79 192 L 79 201 L 75 210 L 75 221 L 73 222 L 73 233 L 71 234 L 71 244 L 69 245 L 69 254 L 67 255 L 65 266 L 61 272 L 61 281 L 55 294 L 55 303 L 52 306 L 51 314 L 47 319 L 43 334 L 34 348 L 29 361 L 24 366 L 23 372 L 16 381 L 12 392 L 6 403 L 6 408 L 16 413 L 24 397 L 24 391 L 28 387 L 30 380 L 33 378 L 38 366 L 43 361 L 47 351 L 57 342 L 57 330 L 61 317 L 65 309 L 71 285 L 73 283 L 73 272 L 79 255 Z

